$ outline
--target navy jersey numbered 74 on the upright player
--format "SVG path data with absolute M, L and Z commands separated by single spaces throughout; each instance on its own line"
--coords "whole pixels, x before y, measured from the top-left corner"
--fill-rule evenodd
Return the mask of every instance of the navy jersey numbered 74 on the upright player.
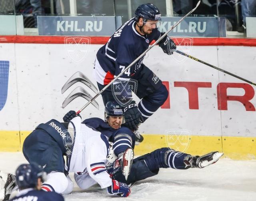
M 140 35 L 135 29 L 135 23 L 135 18 L 128 20 L 114 32 L 108 43 L 98 50 L 94 70 L 98 83 L 106 85 L 111 82 L 148 48 L 152 40 L 160 37 L 161 34 L 157 29 L 154 29 L 150 35 Z M 143 59 L 144 56 L 120 78 L 123 80 L 132 78 L 140 71 Z

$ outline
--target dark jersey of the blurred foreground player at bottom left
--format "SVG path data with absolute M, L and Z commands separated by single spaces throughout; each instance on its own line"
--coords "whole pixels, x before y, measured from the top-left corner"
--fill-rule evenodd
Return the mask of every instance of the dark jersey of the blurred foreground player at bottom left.
M 38 191 L 35 189 L 24 189 L 21 190 L 18 195 L 16 195 L 10 201 L 64 201 L 62 195 L 55 192 L 46 192 L 46 191 Z

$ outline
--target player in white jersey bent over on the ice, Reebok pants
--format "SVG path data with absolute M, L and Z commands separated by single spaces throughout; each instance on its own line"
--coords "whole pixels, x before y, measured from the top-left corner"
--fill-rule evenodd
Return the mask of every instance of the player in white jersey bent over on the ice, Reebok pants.
M 80 116 L 68 123 L 60 123 L 51 119 L 39 124 L 23 145 L 23 154 L 28 162 L 40 164 L 48 173 L 42 184 L 45 191 L 68 194 L 74 184 L 67 172 L 74 172 L 75 180 L 82 189 L 98 183 L 110 194 L 127 197 L 130 188 L 116 180 L 112 180 L 106 171 L 105 160 L 109 143 L 105 135 L 81 123 Z M 64 158 L 67 156 L 64 170 Z M 83 181 L 79 179 L 84 175 Z M 61 184 L 61 185 L 60 185 Z

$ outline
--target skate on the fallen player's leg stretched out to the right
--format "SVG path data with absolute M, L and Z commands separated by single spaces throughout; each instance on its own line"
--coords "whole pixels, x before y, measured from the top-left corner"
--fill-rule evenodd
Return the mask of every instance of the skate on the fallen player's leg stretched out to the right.
M 184 163 L 186 165 L 186 169 L 198 167 L 203 168 L 213 163 L 216 163 L 220 157 L 222 157 L 224 153 L 220 153 L 218 151 L 213 151 L 211 153 L 207 153 L 206 155 L 202 156 L 192 156 L 188 155 L 184 158 Z

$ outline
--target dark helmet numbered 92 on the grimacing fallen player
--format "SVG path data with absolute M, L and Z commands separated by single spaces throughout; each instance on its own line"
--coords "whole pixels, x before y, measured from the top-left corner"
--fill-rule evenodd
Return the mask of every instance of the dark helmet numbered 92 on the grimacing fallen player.
M 114 101 L 108 101 L 105 106 L 105 120 L 107 121 L 108 117 L 120 117 L 124 116 L 123 109 L 118 103 Z M 124 118 L 123 118 L 124 121 Z

